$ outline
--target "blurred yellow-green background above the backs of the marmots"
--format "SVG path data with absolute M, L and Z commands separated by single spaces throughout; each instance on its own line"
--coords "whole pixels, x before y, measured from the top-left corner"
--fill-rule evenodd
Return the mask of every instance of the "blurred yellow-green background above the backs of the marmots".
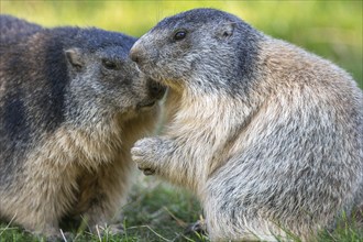
M 98 26 L 141 36 L 164 16 L 193 8 L 234 13 L 268 35 L 323 56 L 363 88 L 363 1 L 0 1 L 1 13 L 45 26 Z

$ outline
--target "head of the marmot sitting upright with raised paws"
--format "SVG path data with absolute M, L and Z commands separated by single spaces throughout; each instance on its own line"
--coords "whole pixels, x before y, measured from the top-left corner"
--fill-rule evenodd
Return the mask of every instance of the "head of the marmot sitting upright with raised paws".
M 161 21 L 130 56 L 147 76 L 175 89 L 233 90 L 255 72 L 262 37 L 232 14 L 195 9 Z

